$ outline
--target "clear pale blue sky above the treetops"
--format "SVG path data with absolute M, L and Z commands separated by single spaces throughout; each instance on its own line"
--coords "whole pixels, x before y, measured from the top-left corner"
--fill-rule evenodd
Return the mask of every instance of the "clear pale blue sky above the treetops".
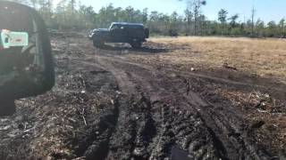
M 55 4 L 58 1 L 55 0 Z M 184 1 L 179 0 L 80 0 L 80 2 L 93 6 L 96 11 L 111 3 L 114 7 L 125 8 L 130 5 L 139 10 L 147 7 L 149 12 L 172 13 L 175 11 L 181 15 L 186 8 Z M 217 12 L 223 8 L 229 12 L 229 15 L 239 13 L 240 20 L 243 21 L 250 18 L 253 5 L 257 10 L 256 19 L 261 18 L 268 22 L 286 18 L 286 0 L 206 0 L 206 6 L 202 11 L 209 20 L 217 20 Z

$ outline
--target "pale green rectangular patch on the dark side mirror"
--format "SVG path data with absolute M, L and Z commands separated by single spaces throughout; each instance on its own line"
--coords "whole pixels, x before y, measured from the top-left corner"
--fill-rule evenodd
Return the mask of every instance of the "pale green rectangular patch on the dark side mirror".
M 1 32 L 1 47 L 4 49 L 13 46 L 27 46 L 29 44 L 29 35 L 27 32 Z

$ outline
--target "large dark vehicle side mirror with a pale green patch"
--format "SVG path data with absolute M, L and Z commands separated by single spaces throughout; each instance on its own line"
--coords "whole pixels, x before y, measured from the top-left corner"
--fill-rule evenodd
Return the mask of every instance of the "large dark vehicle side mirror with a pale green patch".
M 49 91 L 55 71 L 46 25 L 34 9 L 0 1 L 0 33 L 1 116 L 13 110 L 12 100 Z

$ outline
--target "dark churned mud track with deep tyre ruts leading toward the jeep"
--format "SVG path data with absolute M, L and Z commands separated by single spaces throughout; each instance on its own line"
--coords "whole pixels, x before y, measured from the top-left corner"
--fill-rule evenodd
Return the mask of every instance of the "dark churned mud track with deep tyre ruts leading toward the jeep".
M 117 52 L 119 53 L 119 52 Z M 87 159 L 269 159 L 248 136 L 240 111 L 212 104 L 198 77 L 160 70 L 97 50 L 83 63 L 111 72 L 122 94 Z M 193 86 L 194 85 L 194 86 Z M 199 85 L 198 85 L 199 86 Z M 207 97 L 205 97 L 207 98 Z M 106 118 L 107 119 L 107 118 Z M 89 141 L 89 140 L 88 140 Z

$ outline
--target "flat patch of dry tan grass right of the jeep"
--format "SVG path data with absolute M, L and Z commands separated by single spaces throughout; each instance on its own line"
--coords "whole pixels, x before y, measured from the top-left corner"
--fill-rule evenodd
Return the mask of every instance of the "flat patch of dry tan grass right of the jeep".
M 246 73 L 286 80 L 286 40 L 190 36 L 157 37 L 151 42 L 174 48 L 159 56 L 172 64 L 221 68 L 228 63 Z

